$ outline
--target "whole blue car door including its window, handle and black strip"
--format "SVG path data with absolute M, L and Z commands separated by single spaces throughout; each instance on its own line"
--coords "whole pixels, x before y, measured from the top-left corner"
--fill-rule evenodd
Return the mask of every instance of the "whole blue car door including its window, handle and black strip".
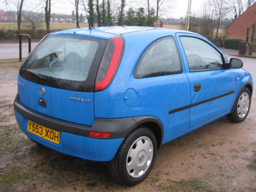
M 198 35 L 178 34 L 190 86 L 189 127 L 196 128 L 226 115 L 236 80 L 219 50 Z

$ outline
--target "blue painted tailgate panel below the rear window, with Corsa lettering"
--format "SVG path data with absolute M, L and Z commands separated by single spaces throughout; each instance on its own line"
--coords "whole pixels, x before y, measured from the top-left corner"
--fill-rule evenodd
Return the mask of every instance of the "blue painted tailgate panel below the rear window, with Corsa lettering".
M 40 88 L 45 89 L 44 96 L 39 94 Z M 18 95 L 20 103 L 41 114 L 80 124 L 93 124 L 94 93 L 74 92 L 42 86 L 19 75 Z M 46 106 L 38 104 L 40 98 L 44 98 Z M 83 99 L 83 101 L 78 101 L 78 98 Z

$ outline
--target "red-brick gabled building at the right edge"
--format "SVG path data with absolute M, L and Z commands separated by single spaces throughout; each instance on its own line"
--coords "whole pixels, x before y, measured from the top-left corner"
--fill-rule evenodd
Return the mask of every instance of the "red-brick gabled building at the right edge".
M 234 20 L 227 28 L 227 39 L 243 39 L 246 40 L 247 28 L 249 31 L 249 41 L 252 35 L 252 25 L 256 25 L 256 3 L 251 5 L 240 17 Z M 256 41 L 256 32 L 254 33 L 254 41 Z

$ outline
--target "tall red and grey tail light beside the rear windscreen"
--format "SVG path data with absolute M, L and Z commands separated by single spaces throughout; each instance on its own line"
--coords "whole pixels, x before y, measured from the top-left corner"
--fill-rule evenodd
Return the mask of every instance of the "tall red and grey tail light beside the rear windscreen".
M 112 37 L 101 59 L 95 91 L 106 89 L 112 82 L 122 58 L 124 40 L 122 36 Z

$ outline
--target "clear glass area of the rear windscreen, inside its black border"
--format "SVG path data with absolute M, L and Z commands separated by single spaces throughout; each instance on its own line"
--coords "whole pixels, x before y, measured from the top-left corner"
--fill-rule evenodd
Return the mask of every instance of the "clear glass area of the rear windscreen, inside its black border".
M 24 67 L 43 76 L 84 81 L 98 46 L 91 39 L 53 36 L 41 42 Z

